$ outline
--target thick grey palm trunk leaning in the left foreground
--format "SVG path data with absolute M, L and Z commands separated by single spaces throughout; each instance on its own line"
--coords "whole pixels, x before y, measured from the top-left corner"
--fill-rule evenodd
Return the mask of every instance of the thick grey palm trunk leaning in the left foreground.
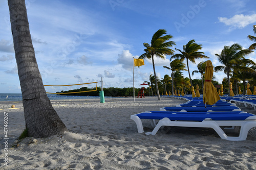
M 46 94 L 32 45 L 25 0 L 8 0 L 11 31 L 28 135 L 35 138 L 67 130 Z

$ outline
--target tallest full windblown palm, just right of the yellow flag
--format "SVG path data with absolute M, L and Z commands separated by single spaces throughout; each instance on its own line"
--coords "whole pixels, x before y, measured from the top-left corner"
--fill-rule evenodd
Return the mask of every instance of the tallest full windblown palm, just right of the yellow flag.
M 152 59 L 152 65 L 153 65 L 155 77 L 156 77 L 156 69 L 155 69 L 154 57 L 165 59 L 165 55 L 173 55 L 174 51 L 168 47 L 176 45 L 174 41 L 168 41 L 169 39 L 173 38 L 172 35 L 164 35 L 164 34 L 166 34 L 166 31 L 163 29 L 160 29 L 153 35 L 151 44 L 143 43 L 143 46 L 146 47 L 144 49 L 145 53 L 139 57 L 140 59 L 145 59 L 145 58 Z M 155 79 L 155 81 L 156 81 L 156 90 L 157 90 L 158 100 L 161 100 L 159 90 L 158 90 L 157 79 Z

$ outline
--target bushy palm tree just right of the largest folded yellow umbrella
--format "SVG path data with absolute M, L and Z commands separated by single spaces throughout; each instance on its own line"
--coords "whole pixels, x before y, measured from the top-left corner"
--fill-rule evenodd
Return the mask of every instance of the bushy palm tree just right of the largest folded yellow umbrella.
M 221 54 L 215 54 L 219 62 L 223 64 L 216 66 L 215 71 L 218 72 L 224 70 L 224 73 L 227 75 L 227 81 L 229 84 L 229 74 L 233 71 L 233 69 L 244 69 L 244 66 L 240 66 L 239 64 L 255 64 L 252 60 L 245 59 L 244 56 L 248 55 L 249 53 L 251 53 L 250 50 L 243 50 L 242 46 L 238 43 L 234 43 L 231 46 L 224 46 Z M 230 92 L 228 92 L 228 94 L 230 95 Z

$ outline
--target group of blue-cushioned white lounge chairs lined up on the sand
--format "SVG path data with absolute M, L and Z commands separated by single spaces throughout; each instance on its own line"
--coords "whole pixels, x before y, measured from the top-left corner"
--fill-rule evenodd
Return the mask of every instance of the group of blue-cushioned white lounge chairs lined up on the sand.
M 248 131 L 256 127 L 256 115 L 242 112 L 230 102 L 218 101 L 215 106 L 201 107 L 201 100 L 191 100 L 176 107 L 163 107 L 160 111 L 147 111 L 131 115 L 139 133 L 143 133 L 141 119 L 151 120 L 154 127 L 147 135 L 155 135 L 162 126 L 212 128 L 230 141 L 246 140 Z M 226 106 L 223 106 L 226 104 Z M 195 107 L 194 107 L 195 106 Z M 225 130 L 238 130 L 239 136 L 228 136 Z

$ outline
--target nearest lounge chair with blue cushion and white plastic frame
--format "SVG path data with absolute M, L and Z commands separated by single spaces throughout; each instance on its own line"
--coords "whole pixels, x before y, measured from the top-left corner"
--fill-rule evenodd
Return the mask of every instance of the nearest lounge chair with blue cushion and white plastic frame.
M 144 132 L 141 119 L 159 119 L 152 132 L 145 132 L 148 135 L 155 135 L 162 126 L 212 128 L 222 139 L 231 141 L 246 140 L 248 131 L 256 127 L 256 115 L 250 113 L 211 114 L 211 112 L 206 112 L 190 114 L 153 111 L 131 115 L 131 119 L 135 121 L 139 133 Z M 241 127 L 240 134 L 238 137 L 227 136 L 221 126 L 239 126 Z

